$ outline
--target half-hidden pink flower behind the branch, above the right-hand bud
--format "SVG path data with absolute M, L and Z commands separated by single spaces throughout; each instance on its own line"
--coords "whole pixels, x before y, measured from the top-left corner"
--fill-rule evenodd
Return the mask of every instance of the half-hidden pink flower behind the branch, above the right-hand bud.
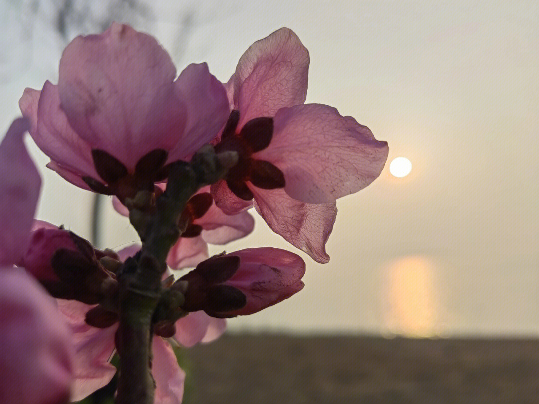
M 165 184 L 158 186 L 164 190 Z M 129 211 L 118 198 L 113 198 L 115 210 L 128 216 Z M 173 269 L 194 267 L 208 258 L 208 243 L 224 245 L 253 231 L 254 220 L 247 212 L 225 214 L 214 203 L 210 186 L 203 186 L 192 196 L 183 213 L 189 226 L 170 249 L 167 264 Z

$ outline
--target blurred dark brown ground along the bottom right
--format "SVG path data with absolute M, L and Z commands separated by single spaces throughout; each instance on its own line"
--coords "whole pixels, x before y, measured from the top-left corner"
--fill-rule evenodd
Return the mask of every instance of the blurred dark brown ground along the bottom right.
M 224 336 L 184 404 L 539 403 L 539 340 Z

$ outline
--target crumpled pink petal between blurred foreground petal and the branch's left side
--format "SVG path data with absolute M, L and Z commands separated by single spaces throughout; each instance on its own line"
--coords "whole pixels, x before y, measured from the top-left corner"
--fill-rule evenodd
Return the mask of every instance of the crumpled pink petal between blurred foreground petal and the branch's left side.
M 114 353 L 118 325 L 105 329 L 89 326 L 84 319 L 93 306 L 74 300 L 58 299 L 58 308 L 73 332 L 75 385 L 71 399 L 78 401 L 107 385 L 116 373 L 109 360 Z

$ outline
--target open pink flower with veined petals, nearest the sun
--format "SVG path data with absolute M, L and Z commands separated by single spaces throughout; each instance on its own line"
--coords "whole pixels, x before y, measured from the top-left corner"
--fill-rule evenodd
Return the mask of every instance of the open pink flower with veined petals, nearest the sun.
M 272 230 L 318 262 L 336 217 L 335 200 L 382 171 L 386 142 L 335 108 L 304 105 L 309 53 L 289 29 L 251 45 L 225 85 L 232 113 L 216 150 L 236 150 L 238 165 L 211 193 L 237 213 L 254 201 Z

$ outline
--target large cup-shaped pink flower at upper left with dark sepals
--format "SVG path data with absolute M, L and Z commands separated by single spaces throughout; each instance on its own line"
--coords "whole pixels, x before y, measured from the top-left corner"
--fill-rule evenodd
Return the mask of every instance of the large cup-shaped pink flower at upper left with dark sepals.
M 113 23 L 75 38 L 58 85 L 26 89 L 19 101 L 49 168 L 75 185 L 133 197 L 153 191 L 165 164 L 188 159 L 228 114 L 222 85 L 206 64 L 176 69 L 157 41 Z

